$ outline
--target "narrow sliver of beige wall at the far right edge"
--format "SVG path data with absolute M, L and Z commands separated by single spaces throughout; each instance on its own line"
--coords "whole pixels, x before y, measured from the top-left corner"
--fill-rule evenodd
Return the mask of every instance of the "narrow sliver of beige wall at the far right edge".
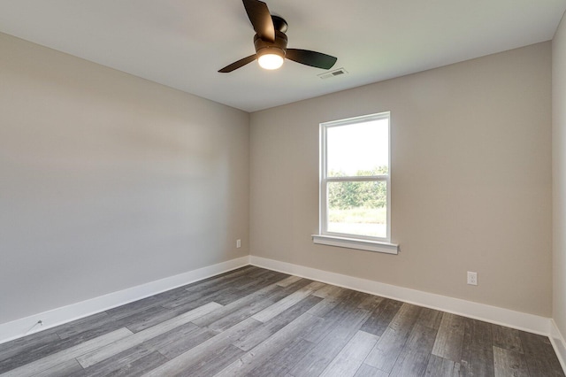
M 566 16 L 552 44 L 553 318 L 566 335 Z

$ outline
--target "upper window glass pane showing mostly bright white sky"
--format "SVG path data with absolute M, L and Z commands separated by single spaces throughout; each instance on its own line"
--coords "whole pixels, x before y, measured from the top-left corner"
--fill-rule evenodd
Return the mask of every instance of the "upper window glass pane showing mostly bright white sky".
M 388 172 L 389 119 L 326 130 L 328 177 L 381 175 Z

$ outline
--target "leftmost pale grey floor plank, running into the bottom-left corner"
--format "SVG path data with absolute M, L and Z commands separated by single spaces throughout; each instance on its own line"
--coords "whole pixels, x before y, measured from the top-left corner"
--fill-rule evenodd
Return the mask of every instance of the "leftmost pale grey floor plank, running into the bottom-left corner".
M 117 342 L 120 339 L 123 339 L 130 335 L 133 335 L 133 333 L 127 328 L 122 327 L 109 334 L 105 334 L 90 341 L 80 343 L 76 346 L 71 347 L 70 349 L 61 350 L 55 354 L 48 356 L 47 358 L 40 358 L 32 363 L 22 365 L 16 369 L 12 369 L 7 373 L 3 373 L 2 377 L 31 376 L 46 369 L 50 369 L 56 365 L 65 363 L 73 358 L 78 358 L 91 350 L 96 350 L 113 342 Z

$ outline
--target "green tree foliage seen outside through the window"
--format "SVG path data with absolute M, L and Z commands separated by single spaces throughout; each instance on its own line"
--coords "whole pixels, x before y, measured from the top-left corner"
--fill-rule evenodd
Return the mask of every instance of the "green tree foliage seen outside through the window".
M 381 175 L 387 166 L 375 167 L 371 171 L 358 171 L 356 176 Z M 331 177 L 344 176 L 342 172 L 329 172 Z M 341 181 L 328 182 L 328 204 L 331 209 L 384 208 L 387 204 L 385 181 Z

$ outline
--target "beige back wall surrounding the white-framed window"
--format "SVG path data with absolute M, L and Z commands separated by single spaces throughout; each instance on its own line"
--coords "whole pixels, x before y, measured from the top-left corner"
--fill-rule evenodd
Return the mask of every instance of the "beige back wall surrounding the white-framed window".
M 252 113 L 251 254 L 549 317 L 550 73 L 544 42 Z M 318 124 L 385 111 L 402 252 L 313 244 Z

